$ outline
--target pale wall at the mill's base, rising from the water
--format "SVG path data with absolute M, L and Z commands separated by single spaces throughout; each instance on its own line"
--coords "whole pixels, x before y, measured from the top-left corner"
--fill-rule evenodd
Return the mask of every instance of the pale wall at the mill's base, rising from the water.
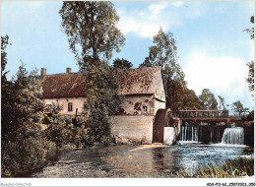
M 111 133 L 142 144 L 152 144 L 154 115 L 110 116 Z

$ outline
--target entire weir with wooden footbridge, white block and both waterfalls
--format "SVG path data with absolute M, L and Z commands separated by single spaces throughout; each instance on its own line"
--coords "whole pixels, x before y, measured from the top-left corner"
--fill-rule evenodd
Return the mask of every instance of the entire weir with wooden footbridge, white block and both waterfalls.
M 241 118 L 230 117 L 228 110 L 182 110 L 166 111 L 163 143 L 173 145 L 183 143 L 244 145 L 248 144 L 248 128 L 234 127 Z M 232 128 L 229 128 L 233 126 Z M 173 128 L 173 129 L 171 129 Z M 247 134 L 246 134 L 247 133 Z M 247 141 L 247 142 L 246 142 Z

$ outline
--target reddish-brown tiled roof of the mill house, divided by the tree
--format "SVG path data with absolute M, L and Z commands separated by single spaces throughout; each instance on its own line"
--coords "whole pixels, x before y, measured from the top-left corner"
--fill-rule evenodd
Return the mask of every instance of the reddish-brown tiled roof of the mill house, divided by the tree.
M 160 67 L 116 71 L 119 94 L 154 94 L 161 81 Z M 42 98 L 86 96 L 83 73 L 46 75 L 40 80 Z

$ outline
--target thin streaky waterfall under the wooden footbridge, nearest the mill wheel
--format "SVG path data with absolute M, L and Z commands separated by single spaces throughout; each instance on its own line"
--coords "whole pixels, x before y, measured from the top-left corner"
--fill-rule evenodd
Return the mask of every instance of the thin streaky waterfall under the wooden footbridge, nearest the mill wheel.
M 198 142 L 198 128 L 195 126 L 182 126 L 180 141 Z

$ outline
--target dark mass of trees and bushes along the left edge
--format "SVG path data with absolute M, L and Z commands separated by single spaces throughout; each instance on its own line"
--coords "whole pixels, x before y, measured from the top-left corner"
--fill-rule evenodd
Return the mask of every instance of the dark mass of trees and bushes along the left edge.
M 22 64 L 12 81 L 7 81 L 6 46 L 8 36 L 1 36 L 1 172 L 15 176 L 39 168 L 43 152 L 50 148 L 41 128 L 43 103 L 39 100 L 36 71 L 30 74 Z

